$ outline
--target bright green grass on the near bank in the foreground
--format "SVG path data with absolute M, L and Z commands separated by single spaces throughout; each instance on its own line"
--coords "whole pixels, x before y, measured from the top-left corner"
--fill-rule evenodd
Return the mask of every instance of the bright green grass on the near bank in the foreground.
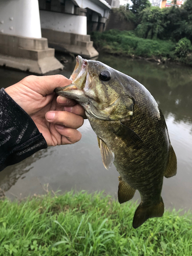
M 0 255 L 177 255 L 192 251 L 192 214 L 165 211 L 132 228 L 136 204 L 72 192 L 0 201 Z

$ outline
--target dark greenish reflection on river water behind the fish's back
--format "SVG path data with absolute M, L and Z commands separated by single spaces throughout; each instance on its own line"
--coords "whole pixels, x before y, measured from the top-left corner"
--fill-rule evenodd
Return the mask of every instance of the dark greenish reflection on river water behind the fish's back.
M 192 69 L 176 65 L 157 65 L 145 60 L 102 55 L 99 59 L 142 83 L 154 96 L 165 117 L 192 122 Z

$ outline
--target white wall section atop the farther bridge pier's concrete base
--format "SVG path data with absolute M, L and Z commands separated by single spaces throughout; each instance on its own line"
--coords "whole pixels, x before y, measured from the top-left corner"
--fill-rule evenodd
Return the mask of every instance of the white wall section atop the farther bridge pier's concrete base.
M 87 35 L 87 17 L 40 10 L 42 29 Z

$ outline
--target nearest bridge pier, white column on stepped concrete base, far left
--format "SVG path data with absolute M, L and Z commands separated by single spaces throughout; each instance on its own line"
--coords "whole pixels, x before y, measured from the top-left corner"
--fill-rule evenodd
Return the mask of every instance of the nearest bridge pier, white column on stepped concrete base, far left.
M 0 66 L 37 74 L 62 69 L 41 37 L 38 0 L 0 0 Z

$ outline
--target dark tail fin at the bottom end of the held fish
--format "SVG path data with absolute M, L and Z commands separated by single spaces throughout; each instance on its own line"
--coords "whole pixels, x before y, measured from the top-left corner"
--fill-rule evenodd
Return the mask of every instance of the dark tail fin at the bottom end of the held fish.
M 135 215 L 133 218 L 133 227 L 138 228 L 141 226 L 147 219 L 153 217 L 161 217 L 164 212 L 164 203 L 161 198 L 157 204 L 153 204 L 151 206 L 145 206 L 143 203 L 137 207 L 135 211 Z

